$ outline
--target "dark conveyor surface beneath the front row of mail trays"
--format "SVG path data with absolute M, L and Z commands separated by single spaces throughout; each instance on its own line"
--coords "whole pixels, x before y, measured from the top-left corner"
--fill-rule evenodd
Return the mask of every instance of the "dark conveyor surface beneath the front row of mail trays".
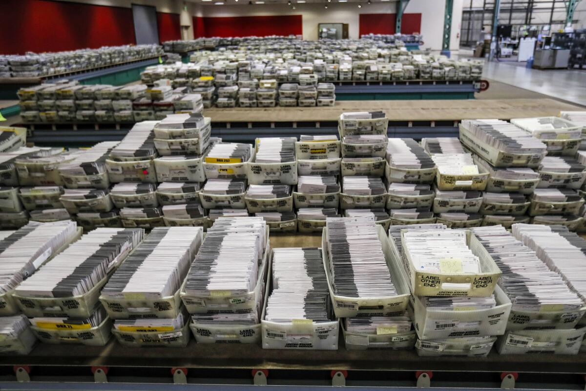
M 267 350 L 259 345 L 196 344 L 186 348 L 127 348 L 112 339 L 104 347 L 39 344 L 28 356 L 2 356 L 0 365 L 111 366 L 209 369 L 383 370 L 447 372 L 584 373 L 586 354 L 499 355 L 486 358 L 419 357 L 415 351 Z

